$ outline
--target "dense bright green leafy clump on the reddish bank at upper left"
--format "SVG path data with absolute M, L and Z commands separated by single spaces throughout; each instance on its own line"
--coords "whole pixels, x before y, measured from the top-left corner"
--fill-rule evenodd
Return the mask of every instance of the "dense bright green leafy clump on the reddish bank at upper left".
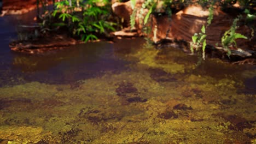
M 82 40 L 86 43 L 88 40 L 98 39 L 97 35 L 115 31 L 115 23 L 108 21 L 109 4 L 107 0 L 65 0 L 55 3 L 53 16 L 58 16 L 73 35 L 82 35 Z

